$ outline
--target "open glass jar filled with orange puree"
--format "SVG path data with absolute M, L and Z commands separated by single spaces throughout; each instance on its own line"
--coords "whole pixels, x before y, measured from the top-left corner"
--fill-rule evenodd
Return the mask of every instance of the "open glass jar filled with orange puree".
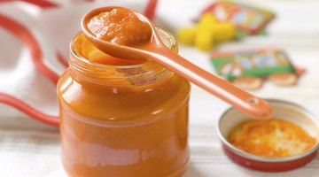
M 159 34 L 177 52 L 172 35 Z M 166 68 L 102 65 L 83 56 L 82 33 L 58 81 L 62 161 L 72 177 L 175 177 L 189 159 L 190 83 Z

